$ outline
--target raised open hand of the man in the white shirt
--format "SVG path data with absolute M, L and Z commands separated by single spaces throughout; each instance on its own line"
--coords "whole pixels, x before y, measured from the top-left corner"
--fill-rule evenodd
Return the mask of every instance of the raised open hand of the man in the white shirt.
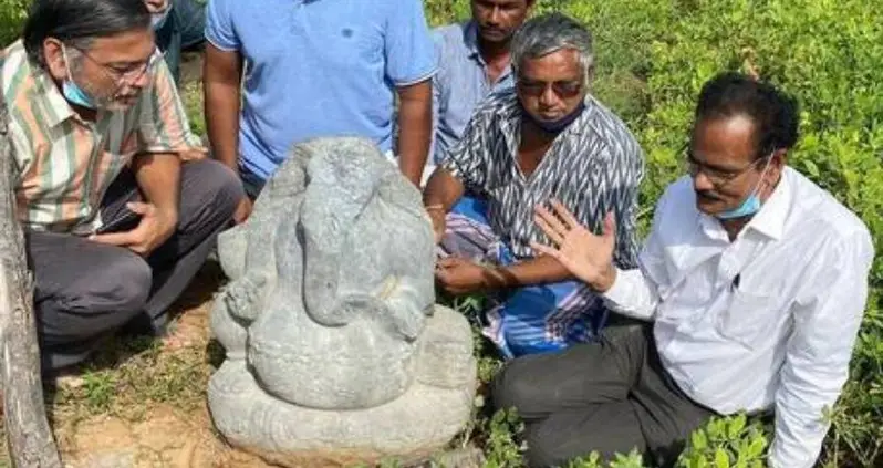
M 599 292 L 613 285 L 616 269 L 613 249 L 616 245 L 616 221 L 613 214 L 604 217 L 601 236 L 592 233 L 560 201 L 551 201 L 554 212 L 538 206 L 534 222 L 557 246 L 531 242 L 531 247 L 561 262 L 574 277 Z

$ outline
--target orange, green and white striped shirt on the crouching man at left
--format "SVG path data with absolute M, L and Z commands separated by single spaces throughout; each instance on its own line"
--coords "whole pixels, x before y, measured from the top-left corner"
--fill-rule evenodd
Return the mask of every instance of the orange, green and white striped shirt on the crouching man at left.
M 2 52 L 0 72 L 24 229 L 87 232 L 101 223 L 104 193 L 133 156 L 206 154 L 163 60 L 135 105 L 98 111 L 95 122 L 74 112 L 48 72 L 28 60 L 21 41 Z

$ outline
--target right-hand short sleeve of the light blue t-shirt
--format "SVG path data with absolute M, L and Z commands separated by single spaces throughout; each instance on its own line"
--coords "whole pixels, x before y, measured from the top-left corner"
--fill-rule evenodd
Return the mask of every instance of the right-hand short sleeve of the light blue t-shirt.
M 407 86 L 430 79 L 437 61 L 423 12 L 423 2 L 399 0 L 388 4 L 386 75 L 396 86 Z

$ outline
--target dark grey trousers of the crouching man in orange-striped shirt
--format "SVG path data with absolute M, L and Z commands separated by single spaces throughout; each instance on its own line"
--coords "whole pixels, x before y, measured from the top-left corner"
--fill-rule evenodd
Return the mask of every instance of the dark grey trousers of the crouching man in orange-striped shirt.
M 44 372 L 85 360 L 123 325 L 136 333 L 163 332 L 166 310 L 196 275 L 243 196 L 236 175 L 210 159 L 184 164 L 180 184 L 178 228 L 146 258 L 77 236 L 25 232 Z M 102 218 L 113 219 L 137 199 L 134 175 L 124 171 L 107 190 Z

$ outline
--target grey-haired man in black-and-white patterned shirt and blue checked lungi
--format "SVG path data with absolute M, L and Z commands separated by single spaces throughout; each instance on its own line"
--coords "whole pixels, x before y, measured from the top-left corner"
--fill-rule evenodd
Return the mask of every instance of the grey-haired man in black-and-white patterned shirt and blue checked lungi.
M 436 277 L 450 293 L 492 293 L 485 333 L 506 356 L 592 341 L 606 320 L 601 300 L 531 241 L 537 205 L 561 200 L 598 229 L 620 220 L 616 264 L 633 268 L 641 148 L 589 94 L 589 31 L 562 14 L 528 21 L 511 44 L 513 91 L 491 95 L 433 174 L 424 204 L 440 242 Z M 465 191 L 487 214 L 450 212 Z M 631 266 L 631 267 L 629 267 Z

